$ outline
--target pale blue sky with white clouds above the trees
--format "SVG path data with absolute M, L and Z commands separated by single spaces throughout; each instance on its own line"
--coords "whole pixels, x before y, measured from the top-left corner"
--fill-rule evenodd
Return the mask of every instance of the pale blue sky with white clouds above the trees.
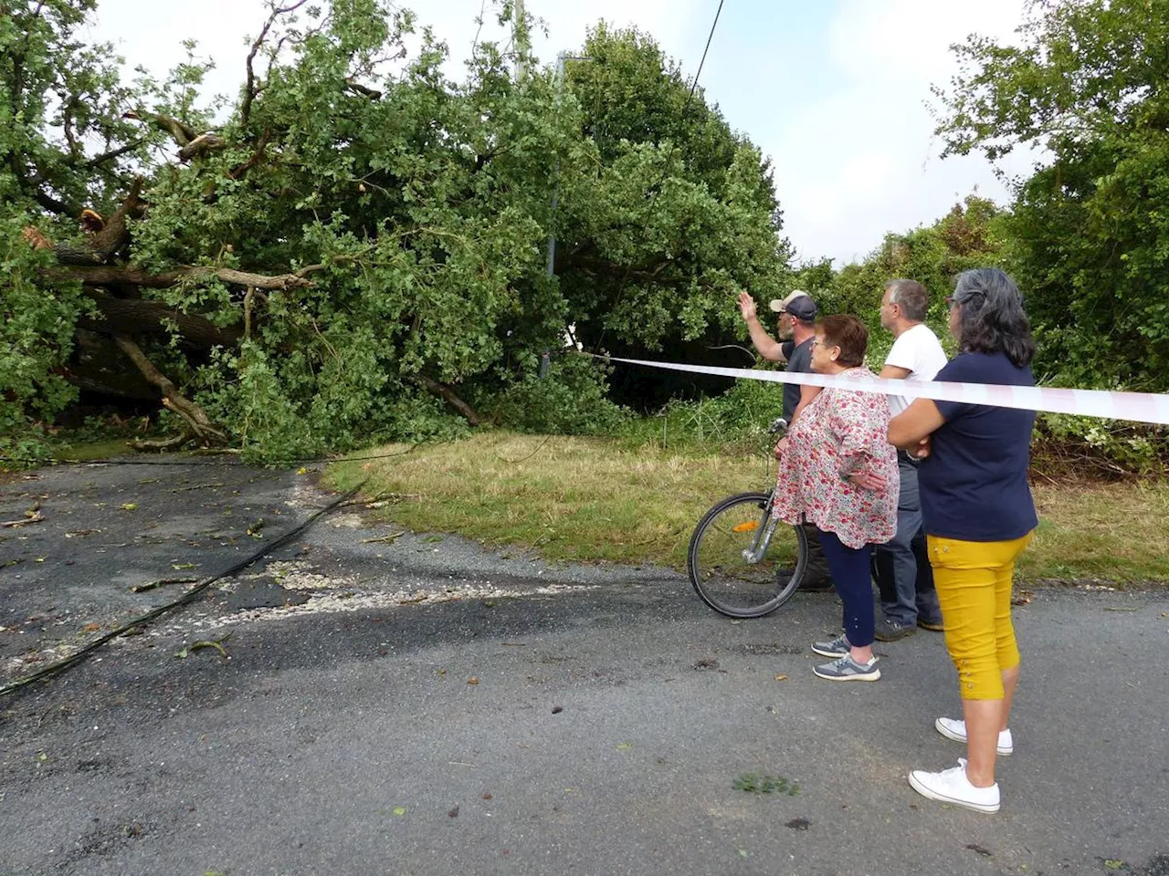
M 542 20 L 533 49 L 544 63 L 579 49 L 604 19 L 652 35 L 693 77 L 718 0 L 524 0 Z M 461 78 L 484 0 L 403 0 L 450 47 Z M 487 0 L 487 6 L 491 2 Z M 736 131 L 770 157 L 783 234 L 798 262 L 839 267 L 862 260 L 888 231 L 943 216 L 971 192 L 999 203 L 1009 192 L 978 157 L 940 158 L 927 103 L 931 84 L 956 71 L 949 46 L 976 33 L 1010 41 L 1025 0 L 724 0 L 699 78 Z M 487 11 L 480 39 L 506 41 Z M 210 92 L 234 96 L 248 36 L 264 0 L 98 0 L 83 35 L 111 41 L 127 67 L 162 75 L 193 39 L 216 70 Z M 546 29 L 546 34 L 542 33 Z M 998 165 L 1005 179 L 1030 171 L 1025 153 Z

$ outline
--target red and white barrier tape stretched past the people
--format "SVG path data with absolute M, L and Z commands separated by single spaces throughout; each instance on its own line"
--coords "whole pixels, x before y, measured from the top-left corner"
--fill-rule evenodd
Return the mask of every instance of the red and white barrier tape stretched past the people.
M 941 381 L 911 380 L 856 380 L 848 376 L 825 374 L 791 374 L 789 371 L 762 371 L 754 368 L 719 368 L 717 366 L 692 366 L 677 362 L 651 362 L 644 359 L 618 359 L 597 356 L 609 362 L 623 362 L 648 368 L 665 368 L 671 371 L 710 374 L 717 377 L 746 377 L 773 383 L 800 383 L 811 387 L 836 387 L 858 392 L 884 392 L 885 395 L 933 398 L 939 402 L 964 402 L 990 404 L 998 408 L 1018 408 L 1026 411 L 1049 413 L 1074 413 L 1080 417 L 1108 417 L 1130 419 L 1136 423 L 1169 424 L 1169 395 L 1153 392 L 1113 392 L 1100 389 L 1056 389 L 1052 387 L 1004 387 L 994 383 L 947 383 Z

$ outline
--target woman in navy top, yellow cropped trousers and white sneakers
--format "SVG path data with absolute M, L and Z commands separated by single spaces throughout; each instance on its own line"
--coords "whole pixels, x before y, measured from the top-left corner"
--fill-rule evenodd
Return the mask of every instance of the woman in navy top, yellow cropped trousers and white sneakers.
M 966 271 L 947 300 L 960 349 L 934 380 L 1035 385 L 1035 342 L 1010 277 L 992 267 Z M 1038 522 L 1026 479 L 1033 425 L 1033 411 L 919 398 L 888 427 L 892 444 L 922 458 L 929 564 L 959 673 L 963 717 L 938 718 L 934 726 L 967 744 L 956 767 L 914 770 L 909 784 L 980 812 L 998 811 L 995 756 L 1014 750 L 1008 722 L 1019 652 L 1011 579 Z

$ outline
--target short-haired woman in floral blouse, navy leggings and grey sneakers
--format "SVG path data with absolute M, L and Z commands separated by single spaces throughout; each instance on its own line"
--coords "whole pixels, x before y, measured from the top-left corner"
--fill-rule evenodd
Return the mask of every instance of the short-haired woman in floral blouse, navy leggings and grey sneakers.
M 856 317 L 816 324 L 811 368 L 817 374 L 877 380 L 864 367 L 869 331 Z M 886 440 L 888 402 L 880 392 L 832 387 L 804 408 L 775 453 L 780 475 L 774 514 L 786 523 L 804 519 L 822 533 L 836 592 L 844 600 L 844 634 L 817 641 L 812 651 L 832 658 L 815 667 L 831 681 L 876 681 L 873 544 L 897 533 L 897 451 Z

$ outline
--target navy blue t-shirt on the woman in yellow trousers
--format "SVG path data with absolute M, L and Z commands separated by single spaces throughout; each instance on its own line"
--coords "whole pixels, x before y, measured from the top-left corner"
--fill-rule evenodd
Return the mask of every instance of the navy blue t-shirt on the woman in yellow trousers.
M 962 353 L 936 381 L 1033 387 L 1003 353 Z M 1022 538 L 1037 526 L 1026 482 L 1035 411 L 935 402 L 946 423 L 918 470 L 926 533 L 967 542 Z

